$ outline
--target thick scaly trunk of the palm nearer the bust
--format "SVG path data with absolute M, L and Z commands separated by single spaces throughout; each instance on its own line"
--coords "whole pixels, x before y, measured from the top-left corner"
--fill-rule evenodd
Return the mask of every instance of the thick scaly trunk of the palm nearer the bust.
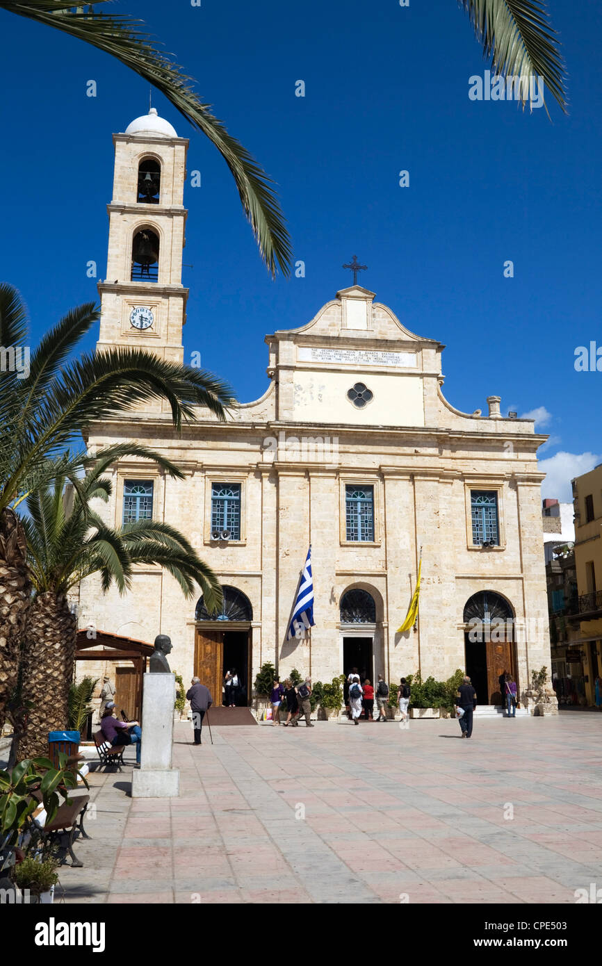
M 17 756 L 48 753 L 48 731 L 68 724 L 77 622 L 67 597 L 47 591 L 32 601 L 22 652 L 22 698 L 29 703 Z

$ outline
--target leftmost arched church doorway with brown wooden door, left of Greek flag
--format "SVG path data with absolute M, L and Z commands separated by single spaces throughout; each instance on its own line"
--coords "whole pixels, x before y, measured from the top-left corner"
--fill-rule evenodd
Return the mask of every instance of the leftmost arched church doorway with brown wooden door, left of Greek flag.
M 237 704 L 246 707 L 251 694 L 251 620 L 250 601 L 236 587 L 223 585 L 219 611 L 209 612 L 201 597 L 196 605 L 194 673 L 221 705 L 223 679 L 228 669 L 236 668 L 239 678 Z

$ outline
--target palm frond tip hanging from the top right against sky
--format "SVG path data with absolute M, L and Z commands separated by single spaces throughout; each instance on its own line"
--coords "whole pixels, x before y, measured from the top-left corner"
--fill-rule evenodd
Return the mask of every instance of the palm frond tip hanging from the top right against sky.
M 485 57 L 493 58 L 503 77 L 534 78 L 529 91 L 519 86 L 523 106 L 535 96 L 534 82 L 543 80 L 566 113 L 564 62 L 557 32 L 544 0 L 458 0 L 469 14 Z M 547 108 L 546 108 L 547 109 Z

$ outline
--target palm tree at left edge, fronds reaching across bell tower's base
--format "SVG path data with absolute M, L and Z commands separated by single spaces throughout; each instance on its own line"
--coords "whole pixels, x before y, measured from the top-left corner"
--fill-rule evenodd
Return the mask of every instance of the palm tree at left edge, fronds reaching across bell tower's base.
M 56 476 L 76 484 L 85 454 L 67 450 L 92 422 L 162 397 L 179 430 L 198 406 L 225 419 L 224 407 L 234 398 L 211 373 L 140 349 L 83 354 L 68 362 L 98 318 L 91 302 L 72 309 L 45 333 L 29 364 L 20 355 L 16 366 L 16 353 L 29 346 L 26 312 L 16 290 L 0 283 L 0 729 L 16 686 L 31 593 L 24 533 L 14 512 L 19 502 Z

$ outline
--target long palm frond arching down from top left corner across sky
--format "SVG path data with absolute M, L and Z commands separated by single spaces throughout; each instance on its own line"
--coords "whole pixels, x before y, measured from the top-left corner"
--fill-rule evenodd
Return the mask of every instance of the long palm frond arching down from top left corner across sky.
M 83 7 L 69 7 L 61 0 L 0 0 L 0 9 L 19 14 L 61 30 L 77 40 L 115 57 L 158 89 L 200 130 L 230 168 L 239 190 L 243 209 L 259 246 L 261 257 L 272 273 L 290 273 L 291 244 L 272 179 L 215 118 L 209 104 L 203 103 L 192 89 L 194 81 L 158 49 L 148 34 L 142 33 L 143 21 L 124 14 L 105 14 L 97 8 L 104 0 L 91 0 Z

